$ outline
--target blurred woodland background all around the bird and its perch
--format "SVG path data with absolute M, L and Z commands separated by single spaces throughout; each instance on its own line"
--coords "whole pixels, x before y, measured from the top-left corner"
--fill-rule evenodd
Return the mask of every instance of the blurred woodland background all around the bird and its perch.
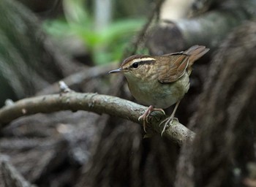
M 0 129 L 0 186 L 256 186 L 255 9 L 255 0 L 1 0 L 1 107 L 59 93 L 59 80 L 135 102 L 124 77 L 107 74 L 124 58 L 211 50 L 176 112 L 194 142 L 86 111 L 24 116 Z

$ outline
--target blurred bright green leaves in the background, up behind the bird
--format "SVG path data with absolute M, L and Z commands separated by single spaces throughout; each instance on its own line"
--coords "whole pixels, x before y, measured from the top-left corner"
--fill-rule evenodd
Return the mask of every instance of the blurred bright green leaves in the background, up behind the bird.
M 143 19 L 115 20 L 107 28 L 96 31 L 94 19 L 87 14 L 81 1 L 72 6 L 69 2 L 66 1 L 69 9 L 64 9 L 65 19 L 47 20 L 44 28 L 53 37 L 79 37 L 96 64 L 120 60 L 124 47 L 145 22 Z

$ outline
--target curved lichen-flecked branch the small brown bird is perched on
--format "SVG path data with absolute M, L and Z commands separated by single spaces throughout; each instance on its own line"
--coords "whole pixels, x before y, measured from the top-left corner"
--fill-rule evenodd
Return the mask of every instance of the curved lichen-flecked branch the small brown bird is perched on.
M 142 124 L 142 121 L 138 121 L 138 117 L 143 114 L 146 107 L 115 96 L 100 95 L 97 93 L 64 93 L 37 96 L 22 99 L 14 104 L 1 108 L 0 129 L 4 128 L 7 123 L 25 115 L 32 115 L 39 112 L 50 113 L 60 110 L 86 110 L 98 114 L 107 113 Z M 153 133 L 161 133 L 162 127 L 159 127 L 159 122 L 166 117 L 161 112 L 152 113 L 149 119 L 148 131 L 151 130 Z M 195 137 L 195 133 L 181 123 L 178 123 L 178 121 L 175 121 L 165 131 L 163 136 L 177 142 L 178 145 L 182 145 L 184 141 L 192 140 Z

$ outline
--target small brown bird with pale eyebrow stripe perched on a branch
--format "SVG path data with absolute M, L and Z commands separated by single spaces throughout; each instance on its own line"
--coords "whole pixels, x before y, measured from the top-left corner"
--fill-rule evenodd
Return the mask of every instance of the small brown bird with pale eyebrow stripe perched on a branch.
M 120 68 L 109 73 L 123 73 L 127 78 L 132 96 L 141 104 L 149 105 L 140 118 L 146 131 L 148 116 L 153 111 L 164 110 L 176 103 L 170 118 L 165 119 L 164 129 L 171 124 L 184 94 L 189 90 L 189 75 L 192 64 L 208 52 L 205 46 L 194 45 L 186 51 L 163 56 L 135 55 L 125 59 Z M 157 108 L 154 108 L 157 107 Z

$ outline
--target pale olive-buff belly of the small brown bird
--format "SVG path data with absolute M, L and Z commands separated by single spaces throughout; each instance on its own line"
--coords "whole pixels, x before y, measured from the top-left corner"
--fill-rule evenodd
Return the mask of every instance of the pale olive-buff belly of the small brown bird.
M 167 108 L 181 100 L 189 90 L 189 76 L 185 74 L 175 83 L 145 83 L 138 81 L 137 84 L 129 84 L 132 96 L 138 102 L 154 107 Z

